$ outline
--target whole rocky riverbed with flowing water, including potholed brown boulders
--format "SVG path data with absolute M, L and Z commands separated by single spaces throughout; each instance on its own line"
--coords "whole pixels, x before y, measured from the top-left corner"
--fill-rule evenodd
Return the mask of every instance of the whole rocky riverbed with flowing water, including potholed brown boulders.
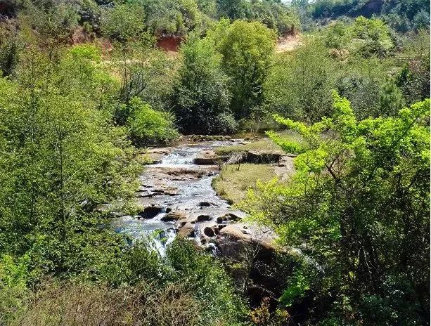
M 271 230 L 245 223 L 245 214 L 212 189 L 219 166 L 196 164 L 202 153 L 236 143 L 240 141 L 205 141 L 152 150 L 153 164 L 146 167 L 136 193 L 143 210 L 115 219 L 117 232 L 134 239 L 152 238 L 160 254 L 177 235 L 193 238 L 200 247 L 224 256 L 236 256 L 251 243 L 274 249 Z

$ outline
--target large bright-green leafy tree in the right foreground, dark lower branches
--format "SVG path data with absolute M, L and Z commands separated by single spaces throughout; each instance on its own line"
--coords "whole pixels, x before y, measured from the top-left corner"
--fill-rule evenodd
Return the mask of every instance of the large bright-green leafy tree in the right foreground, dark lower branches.
M 287 184 L 259 185 L 243 207 L 297 257 L 285 304 L 307 298 L 311 325 L 415 325 L 429 315 L 430 100 L 359 121 L 335 94 L 310 126 L 276 117 L 301 143 Z M 320 322 L 320 323 L 319 323 Z

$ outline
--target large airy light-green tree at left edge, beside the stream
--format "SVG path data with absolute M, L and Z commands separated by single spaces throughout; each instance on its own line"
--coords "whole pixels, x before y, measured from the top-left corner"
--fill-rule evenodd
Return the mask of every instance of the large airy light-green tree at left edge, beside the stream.
M 131 197 L 139 171 L 125 130 L 110 125 L 97 97 L 63 83 L 81 68 L 94 77 L 82 63 L 69 70 L 70 61 L 54 65 L 29 51 L 18 81 L 1 79 L 0 252 L 28 254 L 32 278 L 96 263 L 91 237 L 105 241 L 108 256 L 115 242 L 100 229 L 96 206 Z

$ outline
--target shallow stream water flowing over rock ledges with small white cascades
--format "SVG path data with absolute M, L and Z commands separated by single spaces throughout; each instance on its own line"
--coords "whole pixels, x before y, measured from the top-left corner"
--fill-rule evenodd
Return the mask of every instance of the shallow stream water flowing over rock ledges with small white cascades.
M 212 188 L 212 179 L 219 174 L 219 167 L 194 164 L 200 152 L 236 143 L 238 141 L 210 141 L 178 145 L 165 153 L 157 164 L 146 166 L 136 194 L 145 209 L 136 216 L 114 219 L 112 225 L 116 232 L 129 235 L 135 241 L 149 238 L 155 249 L 164 255 L 167 245 L 179 231 L 178 221 L 167 219 L 168 214 L 191 221 L 194 230 L 185 236 L 195 238 L 200 245 L 201 223 L 214 223 L 226 214 L 243 217 L 242 211 L 232 209 Z

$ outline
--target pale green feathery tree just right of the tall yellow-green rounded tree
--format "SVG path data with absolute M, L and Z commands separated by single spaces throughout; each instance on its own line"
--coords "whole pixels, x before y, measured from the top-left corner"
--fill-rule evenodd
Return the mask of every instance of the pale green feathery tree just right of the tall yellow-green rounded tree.
M 314 122 L 330 115 L 333 63 L 319 39 L 304 39 L 294 53 L 281 56 L 264 84 L 272 112 Z

